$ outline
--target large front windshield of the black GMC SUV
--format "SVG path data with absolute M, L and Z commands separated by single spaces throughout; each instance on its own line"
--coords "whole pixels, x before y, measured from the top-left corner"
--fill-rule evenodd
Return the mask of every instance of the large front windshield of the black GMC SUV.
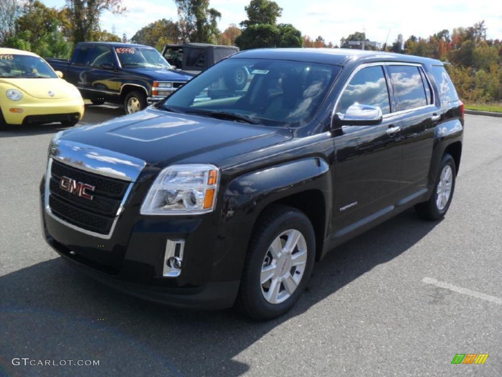
M 196 76 L 159 106 L 294 127 L 314 116 L 339 70 L 330 64 L 231 58 Z

